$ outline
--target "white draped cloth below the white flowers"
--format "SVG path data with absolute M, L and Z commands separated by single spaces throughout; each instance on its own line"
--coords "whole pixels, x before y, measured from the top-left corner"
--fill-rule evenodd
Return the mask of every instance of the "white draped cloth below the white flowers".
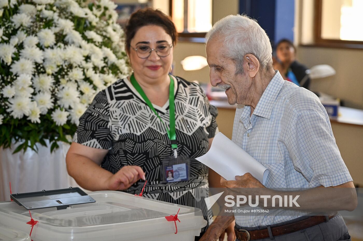
M 69 144 L 58 142 L 60 148 L 50 153 L 50 145 L 38 144 L 38 153 L 30 148 L 12 154 L 12 148 L 0 148 L 0 201 L 10 200 L 9 182 L 12 193 L 28 193 L 41 190 L 78 187 L 67 173 L 65 157 Z

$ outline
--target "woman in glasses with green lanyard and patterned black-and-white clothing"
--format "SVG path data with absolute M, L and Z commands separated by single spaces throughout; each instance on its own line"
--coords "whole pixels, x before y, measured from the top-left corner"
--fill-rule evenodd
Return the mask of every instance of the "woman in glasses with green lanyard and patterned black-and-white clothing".
M 67 169 L 93 191 L 139 194 L 147 179 L 143 196 L 186 206 L 199 202 L 211 222 L 208 194 L 196 200 L 195 191 L 208 181 L 219 187 L 220 177 L 195 158 L 218 132 L 217 110 L 199 85 L 169 75 L 176 38 L 174 24 L 159 10 L 131 15 L 126 52 L 133 73 L 95 96 L 80 118 Z

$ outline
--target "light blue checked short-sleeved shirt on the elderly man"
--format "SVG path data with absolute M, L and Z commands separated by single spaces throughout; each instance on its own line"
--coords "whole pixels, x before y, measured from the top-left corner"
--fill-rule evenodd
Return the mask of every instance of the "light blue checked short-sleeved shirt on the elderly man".
M 268 188 L 329 187 L 352 181 L 319 98 L 285 81 L 278 71 L 251 117 L 249 106 L 237 107 L 232 141 L 269 169 Z M 267 216 L 236 213 L 235 218 L 241 227 L 257 227 L 305 214 L 270 210 Z

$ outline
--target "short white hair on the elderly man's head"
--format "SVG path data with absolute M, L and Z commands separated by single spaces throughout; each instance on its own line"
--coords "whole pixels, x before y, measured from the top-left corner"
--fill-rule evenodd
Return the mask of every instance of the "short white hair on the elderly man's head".
M 243 73 L 243 59 L 246 54 L 256 56 L 262 70 L 273 68 L 269 37 L 255 20 L 239 14 L 224 17 L 208 31 L 205 43 L 217 36 L 224 41 L 225 57 L 236 64 L 236 74 Z

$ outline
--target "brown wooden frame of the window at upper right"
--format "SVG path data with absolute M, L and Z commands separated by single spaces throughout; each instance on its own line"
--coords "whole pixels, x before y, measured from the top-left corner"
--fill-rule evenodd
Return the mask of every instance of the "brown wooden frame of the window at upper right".
M 315 26 L 314 26 L 314 42 L 315 46 L 330 48 L 358 48 L 363 49 L 363 41 L 349 41 L 340 39 L 323 39 L 321 37 L 322 28 L 322 5 L 323 0 L 315 0 Z

